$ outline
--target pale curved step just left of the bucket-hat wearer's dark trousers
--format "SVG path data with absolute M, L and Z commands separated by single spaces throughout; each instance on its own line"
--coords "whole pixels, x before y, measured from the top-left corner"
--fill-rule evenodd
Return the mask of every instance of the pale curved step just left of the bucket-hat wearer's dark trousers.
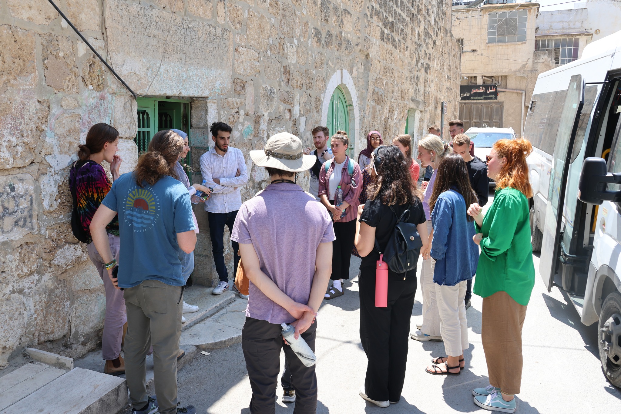
M 184 330 L 181 333 L 181 345 L 218 349 L 240 343 L 247 304 L 247 300 L 237 298 L 212 317 Z

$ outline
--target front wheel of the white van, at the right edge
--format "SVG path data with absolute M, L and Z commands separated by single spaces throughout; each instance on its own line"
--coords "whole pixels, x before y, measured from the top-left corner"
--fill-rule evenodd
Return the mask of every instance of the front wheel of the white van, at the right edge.
M 599 359 L 606 378 L 621 387 L 621 294 L 612 292 L 599 315 Z

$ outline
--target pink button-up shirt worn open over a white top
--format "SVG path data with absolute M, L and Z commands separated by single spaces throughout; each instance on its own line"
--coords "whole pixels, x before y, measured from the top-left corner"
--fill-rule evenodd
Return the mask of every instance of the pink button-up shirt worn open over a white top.
M 358 217 L 358 205 L 360 204 L 360 202 L 358 202 L 358 197 L 362 191 L 362 172 L 360 171 L 358 163 L 354 162 L 352 181 L 347 169 L 348 164 L 349 157 L 346 157 L 345 164 L 343 164 L 343 169 L 341 170 L 341 182 L 339 185 L 343 190 L 343 201 L 350 206 L 345 209 L 345 217 L 337 220 L 337 223 L 351 222 L 351 220 L 355 220 L 356 217 Z M 334 158 L 332 158 L 332 161 L 330 162 L 328 171 L 325 171 L 324 165 L 321 166 L 321 170 L 319 172 L 319 198 L 321 198 L 323 194 L 330 197 L 328 189 L 330 186 L 330 176 L 332 175 L 335 166 Z

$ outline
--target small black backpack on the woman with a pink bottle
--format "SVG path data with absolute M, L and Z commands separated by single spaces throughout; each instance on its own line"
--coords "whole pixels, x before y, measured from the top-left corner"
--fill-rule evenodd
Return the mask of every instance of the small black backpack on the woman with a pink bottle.
M 411 206 L 410 206 L 411 207 Z M 394 215 L 397 213 L 390 207 Z M 419 261 L 420 248 L 423 241 L 420 240 L 418 230 L 414 223 L 407 223 L 410 218 L 410 210 L 407 209 L 397 219 L 397 223 L 392 231 L 392 236 L 388 240 L 384 250 L 384 261 L 388 264 L 388 269 L 403 274 L 416 268 Z M 378 240 L 375 240 L 375 248 L 379 250 Z

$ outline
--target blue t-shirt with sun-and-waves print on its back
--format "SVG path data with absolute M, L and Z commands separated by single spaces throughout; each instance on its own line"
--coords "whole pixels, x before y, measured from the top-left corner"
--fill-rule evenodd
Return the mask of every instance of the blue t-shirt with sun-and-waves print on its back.
M 119 287 L 148 280 L 184 286 L 177 233 L 194 230 L 188 189 L 170 176 L 142 184 L 123 174 L 102 201 L 119 214 Z

